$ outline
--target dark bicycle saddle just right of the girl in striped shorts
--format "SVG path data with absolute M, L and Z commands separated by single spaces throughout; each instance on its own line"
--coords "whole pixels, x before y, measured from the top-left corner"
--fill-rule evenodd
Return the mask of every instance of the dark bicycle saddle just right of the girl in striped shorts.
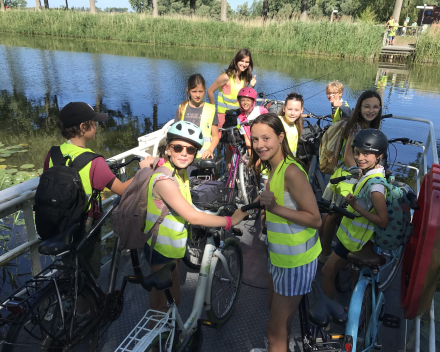
M 321 328 L 326 327 L 330 320 L 336 324 L 344 324 L 348 318 L 344 307 L 328 298 L 317 281 L 312 282 L 312 288 L 316 302 L 309 309 L 310 321 Z

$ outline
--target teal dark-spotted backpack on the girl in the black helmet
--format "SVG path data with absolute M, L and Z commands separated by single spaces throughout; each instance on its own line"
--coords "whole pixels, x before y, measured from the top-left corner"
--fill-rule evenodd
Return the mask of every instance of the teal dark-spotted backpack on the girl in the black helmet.
M 370 187 L 374 184 L 382 184 L 386 189 L 386 204 L 388 210 L 388 225 L 381 229 L 374 225 L 374 244 L 382 250 L 397 249 L 404 246 L 414 231 L 411 223 L 411 208 L 406 197 L 405 188 L 397 187 L 388 183 L 383 178 L 371 178 L 365 186 L 366 192 L 362 197 L 369 197 Z

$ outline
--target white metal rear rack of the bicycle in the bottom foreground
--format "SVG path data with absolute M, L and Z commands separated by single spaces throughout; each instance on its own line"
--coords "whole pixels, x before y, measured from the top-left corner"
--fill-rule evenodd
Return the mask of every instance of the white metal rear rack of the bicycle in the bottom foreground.
M 155 338 L 165 336 L 165 334 L 169 333 L 170 330 L 167 326 L 169 320 L 169 313 L 152 309 L 148 310 L 115 352 L 145 351 L 148 346 L 155 341 Z M 153 329 L 150 329 L 150 323 L 153 322 L 156 323 L 156 325 Z M 168 337 L 171 338 L 171 334 L 169 334 Z

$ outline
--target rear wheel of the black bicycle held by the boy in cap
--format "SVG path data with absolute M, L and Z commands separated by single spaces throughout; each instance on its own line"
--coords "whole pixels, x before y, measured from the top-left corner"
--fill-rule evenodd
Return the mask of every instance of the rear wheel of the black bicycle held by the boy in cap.
M 87 328 L 94 323 L 93 318 L 98 314 L 98 303 L 88 288 L 84 287 L 78 294 L 78 305 L 86 313 L 77 313 L 74 318 L 74 298 L 70 282 L 58 283 L 58 292 L 55 286 L 49 286 L 24 315 L 16 317 L 8 331 L 2 352 L 63 352 L 70 350 L 75 341 L 82 351 L 94 350 L 98 343 L 98 328 L 94 327 L 89 332 Z

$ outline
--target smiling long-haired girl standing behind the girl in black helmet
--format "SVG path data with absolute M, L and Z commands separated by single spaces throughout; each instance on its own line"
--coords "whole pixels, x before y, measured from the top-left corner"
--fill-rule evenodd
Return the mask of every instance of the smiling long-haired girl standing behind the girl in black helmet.
M 367 90 L 361 94 L 356 102 L 356 107 L 353 110 L 353 114 L 350 121 L 345 126 L 345 130 L 342 133 L 344 157 L 341 167 L 339 167 L 331 178 L 345 176 L 350 174 L 350 169 L 357 168 L 356 161 L 353 155 L 353 149 L 351 143 L 353 138 L 359 131 L 366 128 L 380 127 L 380 119 L 382 116 L 382 98 L 380 95 L 372 90 Z M 348 171 L 347 171 L 348 170 Z M 327 185 L 324 191 L 323 198 L 326 200 L 332 200 L 337 206 L 344 203 L 344 197 L 352 191 L 353 184 L 356 182 L 355 178 L 347 181 L 339 182 L 337 185 Z M 319 256 L 319 261 L 323 264 L 329 258 L 332 249 L 331 243 L 333 235 L 336 230 L 337 223 L 341 219 L 339 214 L 326 214 L 322 219 L 322 227 L 319 229 L 322 241 L 322 253 Z

